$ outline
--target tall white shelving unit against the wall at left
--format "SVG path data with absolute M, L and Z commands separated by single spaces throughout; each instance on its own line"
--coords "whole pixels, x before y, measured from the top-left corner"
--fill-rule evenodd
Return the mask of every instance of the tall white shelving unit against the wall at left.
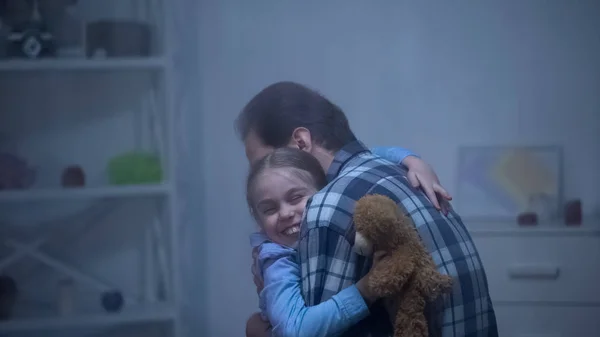
M 119 1 L 79 4 L 90 10 Z M 30 188 L 0 190 L 0 275 L 14 273 L 19 287 L 0 336 L 182 336 L 173 46 L 166 38 L 173 25 L 165 1 L 130 2 L 151 14 L 151 56 L 0 59 L 0 152 L 36 168 Z M 109 184 L 108 160 L 130 151 L 158 155 L 162 181 Z M 60 186 L 69 165 L 84 169 L 84 187 Z M 75 212 L 75 204 L 85 207 Z M 52 218 L 44 219 L 49 208 Z M 90 216 L 92 209 L 100 215 Z M 80 239 L 71 239 L 76 232 Z M 53 282 L 65 277 L 82 289 L 60 313 L 65 299 L 56 299 Z M 123 308 L 106 312 L 103 290 L 120 291 Z

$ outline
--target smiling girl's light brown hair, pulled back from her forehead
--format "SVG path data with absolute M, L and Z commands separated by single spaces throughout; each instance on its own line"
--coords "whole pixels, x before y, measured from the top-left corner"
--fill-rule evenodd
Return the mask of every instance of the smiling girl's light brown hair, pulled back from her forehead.
M 292 168 L 298 178 L 313 185 L 317 190 L 327 185 L 325 172 L 317 158 L 306 151 L 296 148 L 278 148 L 254 163 L 248 173 L 248 178 L 246 179 L 246 201 L 248 202 L 248 208 L 252 216 L 256 214 L 253 196 L 256 178 L 269 168 Z

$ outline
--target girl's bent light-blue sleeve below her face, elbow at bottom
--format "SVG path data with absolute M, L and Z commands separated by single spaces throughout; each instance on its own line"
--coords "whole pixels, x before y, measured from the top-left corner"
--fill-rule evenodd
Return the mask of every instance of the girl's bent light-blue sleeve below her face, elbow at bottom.
M 331 299 L 307 307 L 301 293 L 300 268 L 293 257 L 279 258 L 264 272 L 263 291 L 272 336 L 326 337 L 340 335 L 369 315 L 352 285 Z

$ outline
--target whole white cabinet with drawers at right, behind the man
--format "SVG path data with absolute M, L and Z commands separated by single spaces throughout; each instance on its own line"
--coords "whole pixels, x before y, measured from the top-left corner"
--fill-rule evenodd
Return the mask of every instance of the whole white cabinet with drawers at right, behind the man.
M 571 228 L 469 225 L 501 337 L 598 336 L 600 221 Z

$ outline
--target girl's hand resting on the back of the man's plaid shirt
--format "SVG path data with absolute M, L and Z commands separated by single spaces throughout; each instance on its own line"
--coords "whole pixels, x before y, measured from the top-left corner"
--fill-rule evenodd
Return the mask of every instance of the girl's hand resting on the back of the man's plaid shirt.
M 408 156 L 402 164 L 408 168 L 408 181 L 414 188 L 421 188 L 433 206 L 444 215 L 450 210 L 449 200 L 452 196 L 442 187 L 435 171 L 423 159 Z

